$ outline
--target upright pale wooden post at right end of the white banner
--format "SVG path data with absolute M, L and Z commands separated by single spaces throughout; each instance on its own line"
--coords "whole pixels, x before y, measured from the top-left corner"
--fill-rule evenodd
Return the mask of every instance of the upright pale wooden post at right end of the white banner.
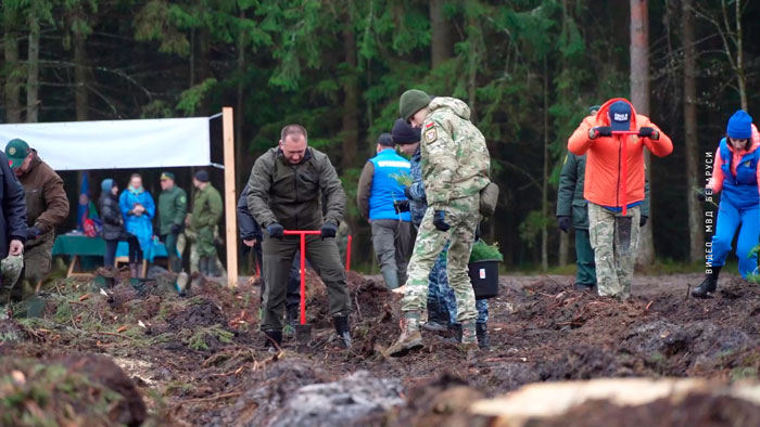
M 235 127 L 232 107 L 221 108 L 221 129 L 225 146 L 225 223 L 227 224 L 227 285 L 238 286 L 238 198 L 235 189 Z

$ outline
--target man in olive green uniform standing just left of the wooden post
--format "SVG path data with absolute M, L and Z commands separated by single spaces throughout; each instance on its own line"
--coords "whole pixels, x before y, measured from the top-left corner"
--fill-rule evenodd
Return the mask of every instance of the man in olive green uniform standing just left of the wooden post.
M 207 276 L 218 276 L 214 228 L 223 212 L 221 195 L 208 182 L 208 172 L 199 170 L 193 178 L 195 195 L 192 202 L 191 227 L 198 233 L 199 270 Z

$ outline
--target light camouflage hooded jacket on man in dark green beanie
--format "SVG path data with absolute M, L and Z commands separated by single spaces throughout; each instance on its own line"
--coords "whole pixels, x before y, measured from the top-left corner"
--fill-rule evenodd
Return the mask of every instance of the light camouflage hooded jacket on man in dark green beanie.
M 491 180 L 485 138 L 470 121 L 470 107 L 455 98 L 435 98 L 422 124 L 421 168 L 433 208 L 480 194 Z

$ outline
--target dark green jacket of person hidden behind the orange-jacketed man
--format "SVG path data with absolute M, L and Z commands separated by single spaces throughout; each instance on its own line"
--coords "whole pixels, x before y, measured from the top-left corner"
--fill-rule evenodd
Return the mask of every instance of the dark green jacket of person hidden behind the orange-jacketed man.
M 568 153 L 557 189 L 557 217 L 572 217 L 572 227 L 588 230 L 588 202 L 583 198 L 586 155 Z M 642 217 L 649 216 L 649 181 L 644 185 Z

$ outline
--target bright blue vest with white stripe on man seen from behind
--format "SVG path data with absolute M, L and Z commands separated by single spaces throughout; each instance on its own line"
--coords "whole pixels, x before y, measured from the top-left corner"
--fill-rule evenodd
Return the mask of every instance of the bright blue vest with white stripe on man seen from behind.
M 409 212 L 396 214 L 395 200 L 406 200 L 404 185 L 397 176 L 409 174 L 409 160 L 394 150 L 383 150 L 367 161 L 359 179 L 357 203 L 369 220 L 393 219 L 410 221 Z M 371 173 L 371 178 L 369 178 Z M 371 184 L 370 184 L 371 179 Z

